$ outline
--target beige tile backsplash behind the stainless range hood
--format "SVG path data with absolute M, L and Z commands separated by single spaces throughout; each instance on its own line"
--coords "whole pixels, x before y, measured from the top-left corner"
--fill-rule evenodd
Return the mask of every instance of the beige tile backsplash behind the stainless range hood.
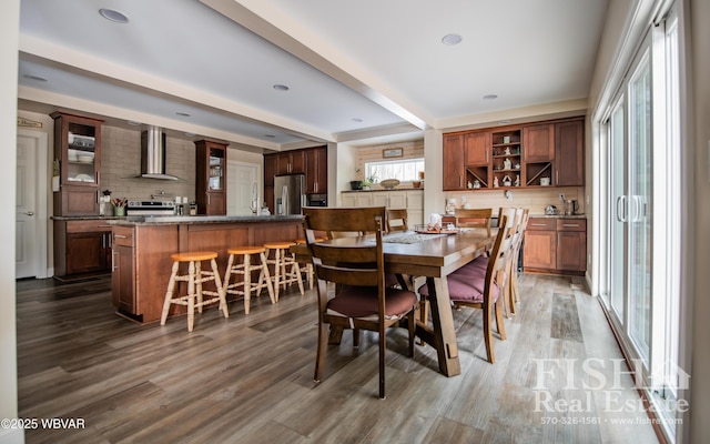
M 101 127 L 101 191 L 113 198 L 161 200 L 174 196 L 195 199 L 195 144 L 189 140 L 166 138 L 165 172 L 179 181 L 138 179 L 141 172 L 141 132 Z

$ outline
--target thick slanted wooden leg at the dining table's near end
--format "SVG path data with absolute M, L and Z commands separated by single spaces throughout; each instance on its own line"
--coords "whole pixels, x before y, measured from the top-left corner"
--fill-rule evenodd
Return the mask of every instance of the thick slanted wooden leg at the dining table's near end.
M 432 305 L 432 323 L 434 324 L 433 345 L 439 360 L 439 370 L 446 376 L 455 376 L 462 373 L 458 361 L 458 344 L 456 343 L 456 332 L 454 330 L 454 315 L 452 314 L 452 303 L 448 297 L 448 284 L 446 278 L 427 278 L 429 287 L 429 303 Z M 417 330 L 423 329 L 417 324 Z M 428 334 L 423 334 L 426 339 Z M 428 340 L 427 340 L 428 341 Z

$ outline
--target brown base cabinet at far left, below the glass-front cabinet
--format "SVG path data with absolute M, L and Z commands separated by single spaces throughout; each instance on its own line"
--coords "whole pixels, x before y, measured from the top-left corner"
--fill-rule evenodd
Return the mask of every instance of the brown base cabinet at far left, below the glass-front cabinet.
M 61 281 L 111 271 L 111 226 L 103 220 L 54 221 L 54 278 Z

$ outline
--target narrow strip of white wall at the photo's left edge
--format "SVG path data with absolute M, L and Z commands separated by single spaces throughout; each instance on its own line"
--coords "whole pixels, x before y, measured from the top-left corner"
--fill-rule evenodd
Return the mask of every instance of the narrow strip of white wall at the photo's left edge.
M 20 0 L 4 0 L 0 14 L 0 190 L 14 190 L 17 167 L 18 40 Z M 14 251 L 14 192 L 4 192 L 11 205 L 0 206 L 0 245 Z M 18 417 L 14 254 L 0 255 L 0 418 Z M 0 428 L 0 442 L 24 443 L 18 428 Z

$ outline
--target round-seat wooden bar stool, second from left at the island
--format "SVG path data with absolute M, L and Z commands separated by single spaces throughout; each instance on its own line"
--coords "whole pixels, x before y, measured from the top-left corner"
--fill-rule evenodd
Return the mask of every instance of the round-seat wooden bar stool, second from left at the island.
M 274 287 L 271 283 L 271 275 L 268 274 L 268 266 L 266 265 L 266 249 L 263 246 L 235 246 L 229 249 L 227 254 L 230 259 L 226 263 L 226 273 L 224 274 L 224 295 L 227 294 L 241 294 L 244 295 L 244 313 L 248 314 L 251 293 L 258 296 L 261 290 L 266 287 L 268 290 L 268 297 L 271 303 L 275 304 Z M 242 263 L 234 264 L 234 256 L 242 255 Z M 256 259 L 258 263 L 252 265 L 252 255 L 258 255 Z M 255 261 L 256 262 L 256 261 Z M 252 272 L 258 270 L 258 282 L 252 282 Z M 244 278 L 242 281 L 236 281 L 230 284 L 230 278 L 233 274 L 242 274 Z M 237 287 L 242 290 L 237 290 Z

